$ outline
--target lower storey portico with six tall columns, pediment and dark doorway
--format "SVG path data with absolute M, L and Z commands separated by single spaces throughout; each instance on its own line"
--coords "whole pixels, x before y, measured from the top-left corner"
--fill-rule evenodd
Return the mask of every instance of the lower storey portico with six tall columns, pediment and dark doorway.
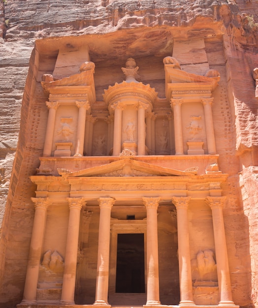
M 132 158 L 58 172 L 31 177 L 35 216 L 17 307 L 236 307 L 223 220 L 227 175 Z

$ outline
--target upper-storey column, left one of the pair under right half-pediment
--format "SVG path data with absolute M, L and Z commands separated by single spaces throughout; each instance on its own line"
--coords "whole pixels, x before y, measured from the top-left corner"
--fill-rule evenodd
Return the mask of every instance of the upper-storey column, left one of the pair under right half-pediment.
M 184 100 L 171 98 L 170 102 L 171 102 L 171 108 L 173 108 L 174 111 L 176 155 L 183 155 L 184 147 L 183 147 L 181 105 L 184 102 Z

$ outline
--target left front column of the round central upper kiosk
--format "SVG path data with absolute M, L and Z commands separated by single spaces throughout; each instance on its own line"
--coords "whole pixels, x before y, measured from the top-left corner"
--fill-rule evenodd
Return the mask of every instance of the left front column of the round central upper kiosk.
M 113 156 L 118 156 L 121 153 L 122 111 L 125 106 L 117 102 L 111 108 L 115 110 Z

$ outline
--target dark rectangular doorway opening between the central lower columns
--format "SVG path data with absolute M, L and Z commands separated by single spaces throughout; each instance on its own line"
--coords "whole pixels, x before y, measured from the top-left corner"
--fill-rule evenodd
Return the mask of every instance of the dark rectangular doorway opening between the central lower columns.
M 145 293 L 143 233 L 117 235 L 116 293 Z

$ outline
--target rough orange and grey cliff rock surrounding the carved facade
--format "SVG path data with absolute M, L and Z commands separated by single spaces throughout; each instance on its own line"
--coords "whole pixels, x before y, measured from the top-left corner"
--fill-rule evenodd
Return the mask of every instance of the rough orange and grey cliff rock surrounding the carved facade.
M 79 73 L 82 62 L 94 62 L 94 112 L 100 114 L 103 89 L 123 82 L 121 67 L 134 57 L 139 81 L 159 93 L 155 108 L 161 110 L 167 56 L 190 74 L 220 72 L 213 119 L 220 170 L 229 174 L 223 189 L 232 293 L 236 305 L 257 306 L 257 15 L 254 0 L 0 2 L 1 307 L 15 307 L 23 295 L 34 216 L 29 177 L 40 165 L 48 114 L 42 75 L 62 79 Z

